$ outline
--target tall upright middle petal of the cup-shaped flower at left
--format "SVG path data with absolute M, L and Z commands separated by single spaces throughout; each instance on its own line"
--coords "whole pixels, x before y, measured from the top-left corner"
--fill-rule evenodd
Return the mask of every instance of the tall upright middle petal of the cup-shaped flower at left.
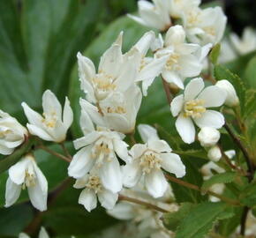
M 45 114 L 56 113 L 57 118 L 62 118 L 62 107 L 56 98 L 56 95 L 50 90 L 42 94 L 42 108 Z

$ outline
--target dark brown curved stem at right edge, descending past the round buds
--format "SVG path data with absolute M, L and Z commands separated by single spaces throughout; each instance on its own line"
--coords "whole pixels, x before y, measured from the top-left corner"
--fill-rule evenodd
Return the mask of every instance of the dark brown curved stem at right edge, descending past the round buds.
M 224 128 L 228 131 L 228 133 L 230 134 L 230 137 L 237 144 L 239 149 L 243 152 L 243 154 L 245 156 L 245 161 L 246 161 L 246 164 L 247 164 L 247 167 L 248 167 L 248 172 L 249 172 L 248 179 L 249 179 L 249 182 L 251 182 L 252 179 L 253 179 L 253 166 L 252 166 L 252 162 L 251 162 L 252 160 L 250 159 L 249 152 L 247 151 L 247 149 L 243 145 L 242 141 L 239 138 L 237 138 L 237 136 L 231 130 L 230 126 L 227 123 L 224 124 Z

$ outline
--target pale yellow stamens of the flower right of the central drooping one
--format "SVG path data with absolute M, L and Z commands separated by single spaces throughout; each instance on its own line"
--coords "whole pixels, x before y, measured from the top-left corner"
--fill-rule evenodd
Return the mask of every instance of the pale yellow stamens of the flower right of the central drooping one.
M 139 158 L 139 166 L 142 167 L 144 173 L 150 173 L 152 169 L 161 168 L 161 158 L 159 154 L 153 151 L 144 152 L 144 154 Z

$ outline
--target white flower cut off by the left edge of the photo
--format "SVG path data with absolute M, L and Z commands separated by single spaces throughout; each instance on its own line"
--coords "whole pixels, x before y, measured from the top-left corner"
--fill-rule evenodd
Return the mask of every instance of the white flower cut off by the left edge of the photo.
M 26 136 L 26 128 L 14 117 L 0 110 L 0 153 L 11 154 L 24 142 Z

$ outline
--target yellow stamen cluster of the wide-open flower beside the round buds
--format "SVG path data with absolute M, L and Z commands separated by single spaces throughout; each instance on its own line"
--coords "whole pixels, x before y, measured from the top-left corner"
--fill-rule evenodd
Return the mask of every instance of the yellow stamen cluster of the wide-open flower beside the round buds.
M 206 112 L 204 107 L 205 101 L 200 99 L 188 100 L 184 104 L 184 116 L 192 118 L 199 118 L 203 113 Z

